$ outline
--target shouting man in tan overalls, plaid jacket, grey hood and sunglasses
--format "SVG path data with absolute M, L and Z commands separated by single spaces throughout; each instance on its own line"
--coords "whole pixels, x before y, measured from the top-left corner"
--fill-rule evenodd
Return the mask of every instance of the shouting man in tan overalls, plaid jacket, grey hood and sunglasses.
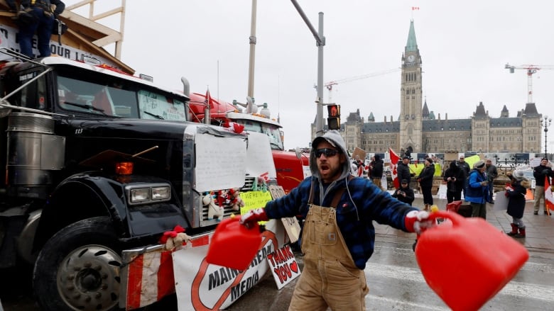
M 310 151 L 312 176 L 266 208 L 250 210 L 240 222 L 302 215 L 304 270 L 288 310 L 366 310 L 364 268 L 374 251 L 373 221 L 406 232 L 432 225 L 429 213 L 350 174 L 346 144 L 336 130 L 316 137 Z

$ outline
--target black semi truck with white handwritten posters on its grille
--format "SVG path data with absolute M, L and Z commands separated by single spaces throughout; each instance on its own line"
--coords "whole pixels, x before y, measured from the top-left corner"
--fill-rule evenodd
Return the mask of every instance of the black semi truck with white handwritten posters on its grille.
M 0 53 L 0 269 L 32 266 L 42 310 L 125 307 L 124 249 L 178 225 L 212 232 L 237 212 L 210 217 L 202 198 L 275 179 L 248 160 L 271 159 L 268 140 L 188 122 L 180 91 L 86 58 Z

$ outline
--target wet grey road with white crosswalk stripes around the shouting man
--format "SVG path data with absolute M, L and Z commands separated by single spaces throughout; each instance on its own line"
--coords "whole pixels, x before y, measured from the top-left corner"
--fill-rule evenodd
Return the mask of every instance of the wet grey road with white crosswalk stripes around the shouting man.
M 377 237 L 375 254 L 365 269 L 369 285 L 366 310 L 450 310 L 425 283 L 412 243 L 408 237 Z M 549 310 L 545 306 L 554 302 L 554 253 L 531 249 L 530 255 L 516 277 L 482 310 Z M 298 261 L 301 263 L 301 257 Z M 287 310 L 293 286 L 278 291 L 266 277 L 228 310 Z

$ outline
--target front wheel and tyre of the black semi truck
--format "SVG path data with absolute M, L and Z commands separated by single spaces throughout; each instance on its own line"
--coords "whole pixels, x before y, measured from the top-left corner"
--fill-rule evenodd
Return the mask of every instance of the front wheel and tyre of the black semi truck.
M 41 310 L 117 310 L 120 254 L 108 217 L 80 220 L 54 234 L 33 271 Z

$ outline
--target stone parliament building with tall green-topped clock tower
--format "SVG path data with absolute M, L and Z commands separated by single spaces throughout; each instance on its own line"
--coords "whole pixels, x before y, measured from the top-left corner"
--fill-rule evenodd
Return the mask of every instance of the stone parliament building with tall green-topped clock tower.
M 482 102 L 469 119 L 448 119 L 447 113 L 435 116 L 423 102 L 422 60 L 415 40 L 413 21 L 402 53 L 400 115 L 377 122 L 373 113 L 367 120 L 356 112 L 342 111 L 340 132 L 347 149 L 355 147 L 369 153 L 420 152 L 541 152 L 541 117 L 535 103 L 526 103 L 515 116 L 504 105 L 499 115 L 489 115 Z M 371 105 L 371 104 L 368 104 Z M 344 118 L 346 116 L 346 118 Z M 311 125 L 315 138 L 315 123 Z

